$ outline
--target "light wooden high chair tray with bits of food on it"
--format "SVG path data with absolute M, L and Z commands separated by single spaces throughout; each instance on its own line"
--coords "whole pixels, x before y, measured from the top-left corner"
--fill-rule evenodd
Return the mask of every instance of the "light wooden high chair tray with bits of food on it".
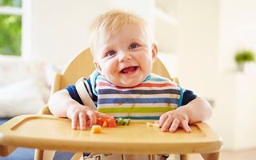
M 116 154 L 207 154 L 217 153 L 222 147 L 221 138 L 203 122 L 191 126 L 190 134 L 183 130 L 164 133 L 138 120 L 132 120 L 129 126 L 102 128 L 101 134 L 91 134 L 90 129 L 72 130 L 70 123 L 67 118 L 51 115 L 12 118 L 0 126 L 0 155 L 10 154 L 18 146 Z

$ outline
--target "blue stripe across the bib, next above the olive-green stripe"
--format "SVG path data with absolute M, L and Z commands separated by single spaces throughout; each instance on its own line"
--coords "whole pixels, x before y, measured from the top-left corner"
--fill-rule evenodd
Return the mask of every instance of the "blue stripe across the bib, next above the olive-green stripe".
M 115 104 L 115 103 L 178 103 L 175 98 L 100 98 L 99 104 Z

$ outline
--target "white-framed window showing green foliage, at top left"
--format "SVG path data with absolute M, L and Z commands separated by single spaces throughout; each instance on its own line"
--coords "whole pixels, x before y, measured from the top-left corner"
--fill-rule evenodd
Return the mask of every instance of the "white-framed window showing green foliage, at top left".
M 0 54 L 22 55 L 22 0 L 0 0 Z

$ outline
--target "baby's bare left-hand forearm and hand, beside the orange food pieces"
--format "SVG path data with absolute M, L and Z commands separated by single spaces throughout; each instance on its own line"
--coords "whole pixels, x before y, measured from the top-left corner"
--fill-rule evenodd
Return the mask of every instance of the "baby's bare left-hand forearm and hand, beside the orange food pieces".
M 91 110 L 88 106 L 83 106 L 70 97 L 67 90 L 59 90 L 50 96 L 48 103 L 50 112 L 57 117 L 67 117 L 71 119 L 71 126 L 77 129 L 78 122 L 80 130 L 86 129 L 86 122 L 89 126 L 96 124 L 97 117 L 109 118 L 109 115 Z M 87 124 L 87 125 L 88 125 Z

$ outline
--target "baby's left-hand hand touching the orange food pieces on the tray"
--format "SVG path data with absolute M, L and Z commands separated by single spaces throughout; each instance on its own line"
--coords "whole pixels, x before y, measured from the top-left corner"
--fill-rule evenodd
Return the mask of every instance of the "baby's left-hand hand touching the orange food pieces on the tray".
M 67 118 L 71 119 L 71 127 L 76 130 L 78 122 L 80 130 L 86 130 L 86 126 L 93 126 L 97 122 L 97 118 L 110 118 L 110 115 L 99 113 L 96 110 L 91 110 L 88 106 L 75 105 L 70 106 L 66 110 Z

